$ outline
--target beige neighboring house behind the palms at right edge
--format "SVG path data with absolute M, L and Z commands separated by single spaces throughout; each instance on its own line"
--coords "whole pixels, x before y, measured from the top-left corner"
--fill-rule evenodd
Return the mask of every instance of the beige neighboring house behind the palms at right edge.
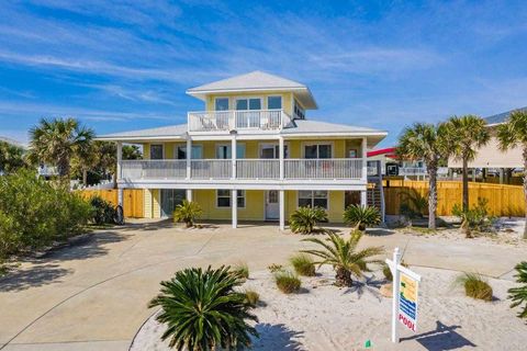
M 527 107 L 523 107 L 520 110 L 527 110 Z M 509 170 L 515 168 L 524 168 L 523 157 L 522 157 L 522 149 L 519 147 L 509 149 L 507 151 L 502 151 L 500 149 L 500 143 L 496 138 L 496 127 L 500 124 L 506 122 L 511 112 L 504 112 L 501 114 L 496 114 L 490 117 L 486 117 L 487 127 L 491 131 L 491 139 L 487 145 L 480 148 L 475 155 L 473 161 L 469 162 L 469 168 L 472 169 L 472 174 L 475 178 L 474 169 L 482 169 L 484 173 L 487 173 L 489 170 L 495 170 L 496 173 L 500 176 L 500 182 L 506 181 L 507 173 L 511 173 Z M 449 168 L 461 168 L 461 161 L 457 159 L 450 159 L 448 161 Z M 507 172 L 508 171 L 508 172 Z

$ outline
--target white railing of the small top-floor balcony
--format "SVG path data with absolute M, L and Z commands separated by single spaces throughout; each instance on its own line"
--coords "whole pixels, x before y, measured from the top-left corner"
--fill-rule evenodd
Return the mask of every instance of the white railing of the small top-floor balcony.
M 280 131 L 291 123 L 283 110 L 189 112 L 189 132 Z

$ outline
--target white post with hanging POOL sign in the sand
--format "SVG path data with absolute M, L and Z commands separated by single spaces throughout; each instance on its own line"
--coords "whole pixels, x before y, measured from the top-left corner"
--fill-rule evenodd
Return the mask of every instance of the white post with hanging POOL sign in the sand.
M 386 263 L 393 276 L 392 342 L 399 342 L 397 321 L 412 331 L 417 331 L 417 295 L 421 275 L 401 265 L 399 248 L 393 250 L 393 260 Z

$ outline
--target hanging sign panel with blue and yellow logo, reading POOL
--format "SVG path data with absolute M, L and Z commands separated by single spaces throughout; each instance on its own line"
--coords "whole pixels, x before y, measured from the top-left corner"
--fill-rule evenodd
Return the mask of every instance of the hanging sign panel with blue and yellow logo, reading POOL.
M 417 331 L 417 290 L 419 283 L 401 272 L 399 287 L 399 321 L 412 331 Z

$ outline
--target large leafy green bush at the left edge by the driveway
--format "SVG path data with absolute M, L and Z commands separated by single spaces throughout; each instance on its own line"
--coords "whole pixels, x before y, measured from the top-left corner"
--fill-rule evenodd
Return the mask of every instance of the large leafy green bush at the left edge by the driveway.
M 0 259 L 85 230 L 90 204 L 29 170 L 0 177 Z

